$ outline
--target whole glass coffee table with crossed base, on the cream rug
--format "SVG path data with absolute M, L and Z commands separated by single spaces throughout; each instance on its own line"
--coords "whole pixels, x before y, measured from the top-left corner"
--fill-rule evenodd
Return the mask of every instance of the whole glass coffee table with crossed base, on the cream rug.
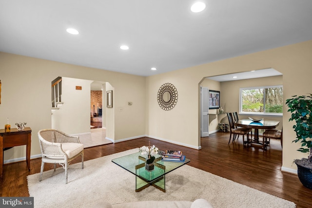
M 189 163 L 190 160 L 185 158 L 185 162 L 183 163 L 167 162 L 162 161 L 161 156 L 158 154 L 156 154 L 155 157 L 155 168 L 152 171 L 145 170 L 146 159 L 141 156 L 141 152 L 115 158 L 112 162 L 136 175 L 136 192 L 149 186 L 154 186 L 157 189 L 166 192 L 165 175 Z

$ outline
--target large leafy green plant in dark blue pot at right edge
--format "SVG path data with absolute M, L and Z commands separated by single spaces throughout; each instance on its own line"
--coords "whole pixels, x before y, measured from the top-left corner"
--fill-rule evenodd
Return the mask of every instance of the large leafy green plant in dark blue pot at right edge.
M 308 158 L 295 159 L 298 168 L 298 177 L 303 186 L 312 189 L 312 94 L 294 95 L 286 100 L 288 112 L 292 113 L 289 121 L 295 121 L 293 129 L 296 139 L 292 142 L 300 142 L 301 148 L 297 151 L 308 153 Z

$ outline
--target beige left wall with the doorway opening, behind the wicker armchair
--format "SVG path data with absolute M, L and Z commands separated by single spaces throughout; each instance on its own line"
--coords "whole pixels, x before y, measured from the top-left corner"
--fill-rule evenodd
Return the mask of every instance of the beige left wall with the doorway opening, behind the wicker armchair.
M 109 120 L 114 123 L 107 128 L 107 135 L 121 141 L 145 134 L 145 77 L 1 52 L 0 126 L 4 128 L 7 117 L 12 128 L 16 122 L 27 122 L 32 129 L 31 155 L 40 154 L 37 132 L 51 128 L 51 81 L 58 76 L 109 82 L 114 87 L 114 108 L 110 110 L 116 115 Z M 133 102 L 131 108 L 128 101 Z M 117 111 L 119 106 L 122 112 Z M 87 112 L 90 116 L 89 106 Z M 5 151 L 4 160 L 25 157 L 25 149 Z

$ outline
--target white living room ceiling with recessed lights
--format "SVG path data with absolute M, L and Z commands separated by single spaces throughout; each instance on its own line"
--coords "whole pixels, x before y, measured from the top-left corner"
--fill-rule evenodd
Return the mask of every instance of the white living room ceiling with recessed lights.
M 312 39 L 312 0 L 195 1 L 0 0 L 0 51 L 152 76 Z

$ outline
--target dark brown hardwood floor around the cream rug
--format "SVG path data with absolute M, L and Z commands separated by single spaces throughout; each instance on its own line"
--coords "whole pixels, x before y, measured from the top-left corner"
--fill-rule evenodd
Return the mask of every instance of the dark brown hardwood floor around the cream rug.
M 196 138 L 195 138 L 196 139 Z M 155 145 L 160 150 L 179 149 L 191 159 L 188 164 L 195 168 L 211 172 L 237 183 L 258 189 L 297 204 L 297 208 L 312 207 L 312 190 L 302 186 L 297 175 L 282 172 L 282 149 L 279 140 L 271 140 L 268 151 L 258 147 L 243 148 L 242 137 L 229 141 L 229 133 L 217 132 L 201 138 L 201 150 L 194 150 L 147 137 L 116 144 L 102 145 L 85 149 L 85 161 L 138 148 L 143 145 Z M 80 162 L 80 158 L 72 163 Z M 29 196 L 27 189 L 28 174 L 40 172 L 41 159 L 31 160 L 28 172 L 25 162 L 6 164 L 0 178 L 0 196 Z M 53 169 L 50 164 L 44 170 Z M 68 175 L 70 177 L 70 175 Z M 265 199 L 263 199 L 265 200 Z

